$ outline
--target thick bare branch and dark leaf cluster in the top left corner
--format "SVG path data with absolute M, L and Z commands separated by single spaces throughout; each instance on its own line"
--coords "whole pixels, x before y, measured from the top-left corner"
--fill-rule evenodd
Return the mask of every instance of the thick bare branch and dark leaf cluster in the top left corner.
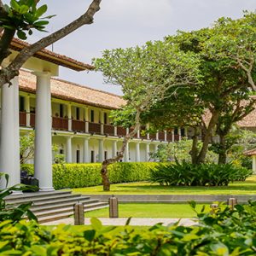
M 0 38 L 0 64 L 10 54 L 9 45 L 15 37 L 15 33 L 20 39 L 26 39 L 27 34 L 31 35 L 33 30 L 44 32 L 45 26 L 48 24 L 47 19 L 52 16 L 44 17 L 47 6 L 44 4 L 38 7 L 39 2 L 40 0 L 11 0 L 10 4 L 3 4 L 3 1 L 0 1 L 0 26 L 3 32 Z M 78 19 L 22 49 L 7 67 L 2 67 L 0 86 L 10 84 L 10 80 L 19 74 L 20 67 L 38 50 L 66 37 L 80 26 L 91 24 L 94 15 L 100 9 L 100 3 L 101 0 L 93 0 L 89 8 Z

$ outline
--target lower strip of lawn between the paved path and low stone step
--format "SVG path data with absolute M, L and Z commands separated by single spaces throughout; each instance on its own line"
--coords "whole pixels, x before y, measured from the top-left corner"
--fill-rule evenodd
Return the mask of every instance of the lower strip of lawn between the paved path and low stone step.
M 200 211 L 202 205 L 197 205 Z M 206 209 L 210 210 L 209 205 Z M 108 218 L 108 208 L 86 212 L 85 217 Z M 189 204 L 148 204 L 148 203 L 126 203 L 119 204 L 119 218 L 195 218 L 196 213 Z

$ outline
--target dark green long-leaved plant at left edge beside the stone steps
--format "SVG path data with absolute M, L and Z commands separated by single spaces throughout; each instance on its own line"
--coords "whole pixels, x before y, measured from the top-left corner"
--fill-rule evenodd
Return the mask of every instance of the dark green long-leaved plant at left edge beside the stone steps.
M 22 218 L 29 218 L 37 220 L 37 217 L 29 210 L 32 206 L 32 202 L 20 204 L 19 206 L 8 205 L 5 202 L 5 197 L 11 195 L 13 191 L 22 191 L 26 189 L 34 189 L 32 186 L 27 186 L 23 184 L 17 184 L 15 186 L 8 186 L 9 175 L 6 173 L 0 173 L 0 179 L 6 180 L 6 188 L 0 189 L 0 222 L 4 220 L 9 220 L 9 222 L 18 222 Z M 3 182 L 3 181 L 1 181 Z

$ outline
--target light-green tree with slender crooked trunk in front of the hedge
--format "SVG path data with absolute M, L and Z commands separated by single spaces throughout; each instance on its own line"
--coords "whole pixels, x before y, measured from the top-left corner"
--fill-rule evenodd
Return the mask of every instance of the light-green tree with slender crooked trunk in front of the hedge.
M 103 189 L 109 190 L 108 166 L 123 158 L 127 142 L 142 125 L 142 114 L 166 96 L 172 87 L 195 84 L 199 65 L 195 54 L 182 52 L 166 42 L 148 42 L 142 47 L 105 50 L 102 58 L 94 61 L 96 70 L 102 71 L 106 83 L 122 86 L 127 104 L 113 113 L 116 125 L 132 126 L 124 137 L 123 146 L 116 157 L 102 162 Z

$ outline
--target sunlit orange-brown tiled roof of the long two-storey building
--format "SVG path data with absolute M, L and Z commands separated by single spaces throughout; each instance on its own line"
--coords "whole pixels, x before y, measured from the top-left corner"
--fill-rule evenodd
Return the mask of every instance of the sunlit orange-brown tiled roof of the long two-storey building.
M 32 73 L 20 70 L 19 83 L 20 90 L 36 92 L 36 77 Z M 99 108 L 116 109 L 125 105 L 125 100 L 121 96 L 61 79 L 51 79 L 51 94 L 58 99 Z

